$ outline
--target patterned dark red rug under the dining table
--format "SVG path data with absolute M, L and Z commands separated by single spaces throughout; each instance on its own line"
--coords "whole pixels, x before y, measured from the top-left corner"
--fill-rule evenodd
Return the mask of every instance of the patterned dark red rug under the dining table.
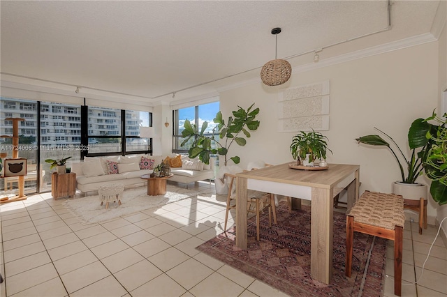
M 346 277 L 346 216 L 334 212 L 332 282 L 323 284 L 310 277 L 310 208 L 289 213 L 281 202 L 277 220 L 270 228 L 265 215 L 261 241 L 256 241 L 256 220 L 251 218 L 247 250 L 235 247 L 234 229 L 197 249 L 290 296 L 383 296 L 386 239 L 354 232 L 352 275 Z

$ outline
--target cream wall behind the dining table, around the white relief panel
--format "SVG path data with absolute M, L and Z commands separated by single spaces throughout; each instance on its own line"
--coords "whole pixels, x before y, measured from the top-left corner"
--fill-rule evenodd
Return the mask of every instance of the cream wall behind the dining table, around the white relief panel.
M 230 156 L 239 155 L 242 167 L 252 160 L 291 162 L 289 146 L 295 133 L 277 132 L 277 93 L 290 86 L 329 79 L 330 130 L 323 134 L 334 154 L 328 156 L 328 162 L 360 165 L 360 192 L 390 192 L 391 183 L 400 179 L 392 153 L 386 148 L 360 146 L 354 139 L 375 134 L 376 126 L 409 153 L 406 135 L 411 122 L 430 116 L 438 106 L 438 61 L 438 43 L 434 42 L 295 73 L 282 86 L 268 87 L 259 82 L 225 91 L 220 97 L 224 118 L 237 105 L 247 108 L 256 102 L 261 109 L 260 128 L 246 146 L 232 146 Z M 436 207 L 429 199 L 430 224 L 434 224 Z

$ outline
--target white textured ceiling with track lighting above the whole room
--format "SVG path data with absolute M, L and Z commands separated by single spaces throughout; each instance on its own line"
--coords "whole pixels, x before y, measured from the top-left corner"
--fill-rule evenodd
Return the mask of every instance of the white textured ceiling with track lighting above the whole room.
M 439 2 L 393 1 L 388 26 L 388 1 L 2 0 L 2 84 L 181 102 L 259 80 L 274 27 L 277 57 L 296 70 L 315 51 L 322 63 L 431 34 Z

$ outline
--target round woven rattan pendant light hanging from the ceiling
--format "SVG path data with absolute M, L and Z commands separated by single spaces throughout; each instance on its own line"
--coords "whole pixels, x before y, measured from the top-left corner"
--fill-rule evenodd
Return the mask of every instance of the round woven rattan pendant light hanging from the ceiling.
M 292 67 L 288 61 L 277 59 L 277 35 L 281 33 L 281 28 L 272 29 L 275 36 L 274 60 L 265 63 L 261 69 L 261 79 L 268 86 L 279 86 L 287 82 L 292 75 Z

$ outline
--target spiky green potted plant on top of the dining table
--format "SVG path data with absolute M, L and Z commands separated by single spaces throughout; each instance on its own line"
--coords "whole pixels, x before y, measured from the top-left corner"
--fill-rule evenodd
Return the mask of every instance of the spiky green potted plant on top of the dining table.
M 297 135 L 292 137 L 292 144 L 290 146 L 292 157 L 297 160 L 297 165 L 314 166 L 315 160 L 322 160 L 325 165 L 326 152 L 332 151 L 328 148 L 328 142 L 320 132 L 300 131 Z

